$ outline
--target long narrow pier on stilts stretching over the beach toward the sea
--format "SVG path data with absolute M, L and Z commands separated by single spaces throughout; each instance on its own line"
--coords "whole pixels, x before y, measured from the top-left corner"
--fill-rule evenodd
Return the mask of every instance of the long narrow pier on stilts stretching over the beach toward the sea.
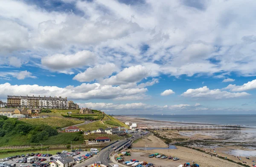
M 241 130 L 240 125 L 166 126 L 147 127 L 147 130 Z

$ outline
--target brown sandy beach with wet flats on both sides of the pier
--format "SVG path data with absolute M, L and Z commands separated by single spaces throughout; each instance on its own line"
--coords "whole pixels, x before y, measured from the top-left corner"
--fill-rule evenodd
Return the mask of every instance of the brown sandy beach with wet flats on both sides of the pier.
M 127 116 L 116 116 L 115 118 L 123 122 L 132 122 L 137 124 L 147 124 L 148 126 L 180 126 L 188 125 L 185 123 L 157 121 L 144 118 L 134 118 Z M 191 125 L 191 124 L 190 124 Z M 196 125 L 196 124 L 195 124 Z M 154 133 L 154 134 L 152 134 Z M 177 143 L 183 147 L 177 146 L 176 150 L 148 150 L 147 153 L 162 153 L 179 157 L 182 162 L 198 162 L 202 167 L 239 167 L 241 165 L 216 157 L 227 157 L 235 162 L 246 161 L 252 166 L 256 160 L 256 129 L 242 129 L 241 131 L 230 130 L 155 130 L 147 137 L 140 139 L 133 144 L 133 147 L 166 147 L 166 142 L 170 144 Z M 200 149 L 193 150 L 191 148 Z M 134 150 L 136 152 L 145 152 L 143 150 Z M 205 151 L 205 153 L 202 153 Z M 212 154 L 212 156 L 211 156 Z M 239 157 L 241 155 L 241 157 Z M 236 157 L 238 156 L 241 160 Z M 250 160 L 245 157 L 250 157 Z M 181 164 L 181 163 L 180 163 Z M 245 163 L 243 163 L 245 164 Z M 164 166 L 160 163 L 160 165 Z M 175 167 L 176 164 L 174 164 Z

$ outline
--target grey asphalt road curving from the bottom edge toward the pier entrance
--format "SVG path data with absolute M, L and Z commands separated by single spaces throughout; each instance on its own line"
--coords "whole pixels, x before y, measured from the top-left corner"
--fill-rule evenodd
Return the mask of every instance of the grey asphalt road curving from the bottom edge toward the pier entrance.
M 129 138 L 129 139 L 136 140 L 137 138 L 140 138 L 140 135 L 138 135 L 138 134 L 133 134 L 133 136 L 134 136 L 134 138 Z M 127 140 L 120 140 L 120 141 L 116 142 L 115 144 L 113 144 L 113 146 L 115 146 L 114 148 L 111 148 L 111 146 L 112 146 L 111 145 L 111 146 L 105 148 L 104 150 L 100 151 L 98 155 L 94 155 L 94 157 L 89 158 L 87 161 L 77 165 L 76 167 L 84 167 L 86 165 L 93 164 L 96 161 L 101 161 L 102 164 L 105 164 L 105 165 L 108 165 L 108 163 L 109 164 L 113 163 L 110 159 L 108 160 L 109 154 L 112 153 L 116 147 L 121 146 L 125 142 L 127 142 Z

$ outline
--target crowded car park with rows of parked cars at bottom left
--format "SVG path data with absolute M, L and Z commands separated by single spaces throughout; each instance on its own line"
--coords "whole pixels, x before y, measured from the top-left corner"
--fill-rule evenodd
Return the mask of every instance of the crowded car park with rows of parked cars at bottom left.
M 83 159 L 84 157 L 82 156 L 89 155 L 89 153 L 90 151 L 84 151 L 84 150 L 81 150 L 80 152 L 64 151 L 64 153 L 59 152 L 58 154 L 56 153 L 54 155 L 49 154 L 49 157 L 47 157 L 47 154 L 35 153 L 34 156 L 31 156 L 32 153 L 27 153 L 26 155 L 19 155 L 20 157 L 16 157 L 16 158 L 15 156 L 17 155 L 15 155 L 14 157 L 0 158 L 0 163 L 3 162 L 1 163 L 2 165 L 0 164 L 0 166 L 1 167 L 15 167 L 15 166 L 16 167 L 47 167 L 50 165 L 51 162 L 57 161 L 59 158 L 73 156 L 73 158 L 75 159 L 79 159 L 79 157 Z M 92 153 L 90 155 L 92 155 Z M 35 160 L 31 160 L 31 162 L 27 162 L 26 159 L 31 157 L 37 157 L 37 158 Z M 9 159 L 9 158 L 12 158 L 12 159 Z

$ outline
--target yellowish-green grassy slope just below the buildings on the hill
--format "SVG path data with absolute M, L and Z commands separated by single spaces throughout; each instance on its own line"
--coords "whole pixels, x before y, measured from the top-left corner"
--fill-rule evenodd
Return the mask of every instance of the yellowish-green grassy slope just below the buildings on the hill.
M 74 120 L 69 118 L 58 118 L 58 117 L 48 117 L 48 118 L 22 118 L 20 121 L 24 121 L 32 125 L 42 125 L 47 124 L 51 127 L 68 127 L 71 125 L 81 124 L 84 121 Z

